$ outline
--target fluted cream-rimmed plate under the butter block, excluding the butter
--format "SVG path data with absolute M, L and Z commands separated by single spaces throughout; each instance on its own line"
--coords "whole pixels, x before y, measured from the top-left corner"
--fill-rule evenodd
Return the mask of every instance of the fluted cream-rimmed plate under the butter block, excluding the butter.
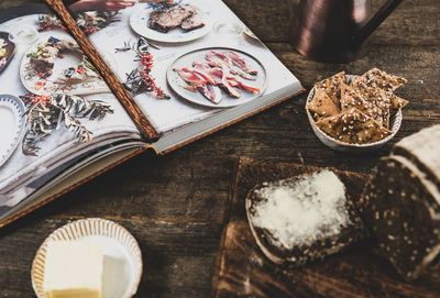
M 103 249 L 102 298 L 130 298 L 136 294 L 142 276 L 142 254 L 136 240 L 116 222 L 84 219 L 54 231 L 36 252 L 31 278 L 38 298 L 47 298 L 43 289 L 47 243 L 75 240 L 89 241 Z

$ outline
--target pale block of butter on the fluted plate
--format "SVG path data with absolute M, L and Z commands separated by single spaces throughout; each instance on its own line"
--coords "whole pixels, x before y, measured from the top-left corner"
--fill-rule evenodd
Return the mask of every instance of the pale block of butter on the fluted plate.
M 48 298 L 101 298 L 102 247 L 86 241 L 51 241 L 44 265 Z

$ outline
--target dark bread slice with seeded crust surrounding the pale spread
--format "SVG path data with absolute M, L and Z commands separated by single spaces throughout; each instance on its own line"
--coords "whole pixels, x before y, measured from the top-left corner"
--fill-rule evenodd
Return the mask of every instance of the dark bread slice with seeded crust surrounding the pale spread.
M 339 231 L 337 233 L 329 232 L 329 229 L 333 229 L 334 227 L 322 225 L 320 227 L 322 228 L 322 231 L 311 234 L 309 241 L 298 241 L 296 244 L 294 241 L 294 245 L 284 245 L 278 239 L 276 239 L 276 235 L 274 234 L 274 230 L 272 228 L 268 228 L 271 230 L 262 228 L 270 225 L 264 225 L 261 223 L 261 220 L 256 220 L 256 217 L 261 213 L 260 209 L 262 208 L 262 203 L 264 203 L 265 200 L 268 199 L 264 197 L 263 192 L 265 191 L 265 189 L 268 188 L 276 189 L 287 187 L 287 189 L 294 189 L 295 187 L 298 187 L 298 184 L 300 184 L 305 179 L 308 179 L 314 175 L 322 172 L 330 172 L 334 174 L 337 176 L 337 179 L 339 179 L 343 185 L 345 199 L 342 205 L 339 203 L 337 206 L 337 209 L 338 212 L 341 212 L 341 214 L 343 214 L 343 217 L 345 218 L 344 224 L 338 227 Z M 245 207 L 248 221 L 250 223 L 251 231 L 256 240 L 257 245 L 261 247 L 263 253 L 276 264 L 288 263 L 292 265 L 302 265 L 307 262 L 322 258 L 327 255 L 337 253 L 348 245 L 365 239 L 367 236 L 367 232 L 359 214 L 355 211 L 353 202 L 353 200 L 359 199 L 362 194 L 362 189 L 365 183 L 363 178 L 364 176 L 353 173 L 349 174 L 345 172 L 323 169 L 319 172 L 305 173 L 304 175 L 292 177 L 288 179 L 265 183 L 254 187 L 246 197 Z M 331 187 L 332 186 L 330 186 L 330 191 Z M 307 196 L 300 198 L 298 197 L 299 199 L 292 197 L 293 202 L 295 202 L 296 200 L 296 203 L 300 203 L 301 201 L 314 199 L 314 188 L 309 188 L 308 191 L 309 194 L 306 194 Z M 295 212 L 297 211 L 292 210 L 293 216 Z M 277 217 L 280 214 L 274 216 Z M 301 222 L 298 222 L 298 224 L 301 224 Z

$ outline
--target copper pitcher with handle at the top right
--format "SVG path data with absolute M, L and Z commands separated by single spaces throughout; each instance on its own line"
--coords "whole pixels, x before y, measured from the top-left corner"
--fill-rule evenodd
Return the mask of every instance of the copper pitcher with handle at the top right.
M 354 60 L 365 53 L 369 36 L 402 1 L 387 0 L 371 16 L 371 0 L 301 0 L 293 44 L 315 60 Z

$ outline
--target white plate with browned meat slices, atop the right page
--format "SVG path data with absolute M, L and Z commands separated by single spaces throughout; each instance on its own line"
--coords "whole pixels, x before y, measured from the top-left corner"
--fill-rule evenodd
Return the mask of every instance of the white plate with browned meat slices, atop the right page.
M 162 43 L 186 43 L 211 31 L 207 14 L 190 4 L 151 7 L 136 10 L 130 25 L 141 36 Z

